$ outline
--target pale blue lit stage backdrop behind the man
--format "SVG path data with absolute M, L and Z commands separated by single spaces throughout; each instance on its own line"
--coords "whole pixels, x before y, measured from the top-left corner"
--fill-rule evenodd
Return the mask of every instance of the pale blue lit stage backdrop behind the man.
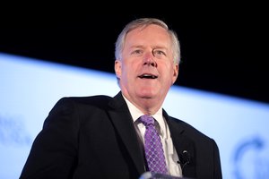
M 0 178 L 19 177 L 59 98 L 118 90 L 111 73 L 0 53 Z M 164 108 L 217 142 L 223 178 L 269 178 L 268 104 L 173 86 Z

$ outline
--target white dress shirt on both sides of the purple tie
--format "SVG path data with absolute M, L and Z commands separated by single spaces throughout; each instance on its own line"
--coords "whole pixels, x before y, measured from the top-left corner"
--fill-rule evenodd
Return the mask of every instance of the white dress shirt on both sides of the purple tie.
M 144 143 L 143 136 L 145 132 L 145 126 L 140 122 L 140 120 L 137 120 L 139 119 L 141 115 L 144 115 L 144 114 L 137 107 L 135 107 L 130 101 L 128 101 L 128 99 L 125 98 L 125 100 L 129 108 L 129 111 L 132 115 L 132 118 L 134 120 L 135 130 L 140 136 L 141 141 Z M 182 177 L 182 170 L 181 170 L 180 165 L 178 164 L 178 161 L 179 161 L 178 154 L 177 154 L 176 149 L 174 148 L 172 139 L 170 137 L 169 126 L 164 120 L 164 117 L 162 115 L 162 107 L 157 111 L 156 114 L 152 115 L 152 117 L 158 122 L 158 123 L 155 123 L 155 125 L 161 137 L 161 143 L 163 146 L 169 175 Z

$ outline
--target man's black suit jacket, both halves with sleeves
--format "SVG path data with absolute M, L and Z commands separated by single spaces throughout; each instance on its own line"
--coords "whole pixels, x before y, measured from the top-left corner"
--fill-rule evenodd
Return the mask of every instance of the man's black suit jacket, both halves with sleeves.
M 165 111 L 163 114 L 183 175 L 221 178 L 215 141 Z M 60 99 L 33 142 L 20 178 L 137 179 L 145 172 L 144 166 L 133 120 L 119 92 L 114 98 Z

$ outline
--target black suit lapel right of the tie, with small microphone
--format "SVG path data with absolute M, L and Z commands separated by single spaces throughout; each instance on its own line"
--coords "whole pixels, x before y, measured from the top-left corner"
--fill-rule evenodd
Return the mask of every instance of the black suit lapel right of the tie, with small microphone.
M 178 153 L 184 177 L 195 177 L 195 145 L 187 135 L 182 121 L 171 118 L 164 110 L 163 115 L 169 125 L 170 135 Z

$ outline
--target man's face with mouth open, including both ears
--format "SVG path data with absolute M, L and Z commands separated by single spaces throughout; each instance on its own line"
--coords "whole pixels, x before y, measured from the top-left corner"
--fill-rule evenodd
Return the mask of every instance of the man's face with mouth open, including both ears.
M 162 103 L 178 77 L 168 32 L 157 25 L 130 31 L 115 71 L 123 94 L 131 102 L 152 98 Z

